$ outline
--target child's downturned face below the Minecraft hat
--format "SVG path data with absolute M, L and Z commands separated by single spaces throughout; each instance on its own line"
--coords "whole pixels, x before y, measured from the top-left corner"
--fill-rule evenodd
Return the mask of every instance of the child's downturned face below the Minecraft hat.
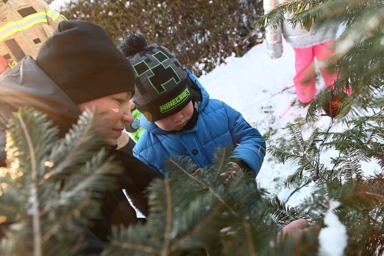
M 189 101 L 184 109 L 173 114 L 172 116 L 168 116 L 166 118 L 155 121 L 155 124 L 164 131 L 180 131 L 183 129 L 193 114 L 194 105 L 192 101 Z

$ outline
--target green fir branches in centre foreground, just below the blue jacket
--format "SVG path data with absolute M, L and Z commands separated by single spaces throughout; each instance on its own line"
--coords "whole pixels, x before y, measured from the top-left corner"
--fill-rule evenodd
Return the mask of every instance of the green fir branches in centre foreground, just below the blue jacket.
M 188 157 L 170 158 L 166 165 L 167 179 L 155 181 L 148 188 L 151 209 L 146 224 L 132 226 L 124 232 L 116 230 L 106 253 L 144 254 L 151 251 L 156 255 L 178 255 L 183 252 L 201 254 L 208 249 L 222 254 L 223 248 L 216 244 L 233 237 L 242 241 L 241 250 L 253 253 L 262 248 L 260 241 L 268 238 L 264 232 L 260 239 L 263 234 L 258 233 L 266 228 L 263 224 L 263 192 L 255 189 L 254 177 L 238 172 L 228 185 L 219 178 L 220 173 L 231 169 L 227 163 L 233 161 L 232 156 L 233 152 L 228 148 L 219 148 L 215 163 L 199 169 Z M 164 191 L 168 192 L 164 195 Z M 170 216 L 172 221 L 164 221 Z M 233 232 L 221 233 L 224 227 Z M 145 235 L 148 231 L 151 232 L 150 241 L 141 240 L 148 238 Z M 243 241 L 244 236 L 246 241 Z M 238 247 L 226 250 L 234 248 Z

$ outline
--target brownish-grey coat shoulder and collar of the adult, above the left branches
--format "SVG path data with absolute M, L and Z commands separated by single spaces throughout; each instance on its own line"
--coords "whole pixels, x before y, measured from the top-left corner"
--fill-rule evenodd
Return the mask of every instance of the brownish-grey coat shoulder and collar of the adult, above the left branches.
M 59 135 L 67 133 L 80 115 L 72 100 L 42 72 L 31 56 L 26 56 L 6 74 L 0 78 L 0 166 L 5 166 L 8 119 L 20 106 L 31 106 L 46 113 L 58 125 Z

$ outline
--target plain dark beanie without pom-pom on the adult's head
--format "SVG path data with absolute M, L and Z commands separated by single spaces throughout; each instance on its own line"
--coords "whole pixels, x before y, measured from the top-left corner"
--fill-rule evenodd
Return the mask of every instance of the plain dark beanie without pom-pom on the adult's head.
M 105 29 L 90 22 L 60 22 L 41 45 L 36 63 L 75 104 L 135 92 L 132 65 Z

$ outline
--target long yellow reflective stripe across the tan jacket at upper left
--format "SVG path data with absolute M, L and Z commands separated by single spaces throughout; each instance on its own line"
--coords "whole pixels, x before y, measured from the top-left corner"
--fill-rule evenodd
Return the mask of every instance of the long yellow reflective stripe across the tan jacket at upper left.
M 17 20 L 16 22 L 9 22 L 0 28 L 0 41 L 3 41 L 5 38 L 17 31 L 29 29 L 38 23 L 48 23 L 47 15 L 45 12 L 37 12 Z

